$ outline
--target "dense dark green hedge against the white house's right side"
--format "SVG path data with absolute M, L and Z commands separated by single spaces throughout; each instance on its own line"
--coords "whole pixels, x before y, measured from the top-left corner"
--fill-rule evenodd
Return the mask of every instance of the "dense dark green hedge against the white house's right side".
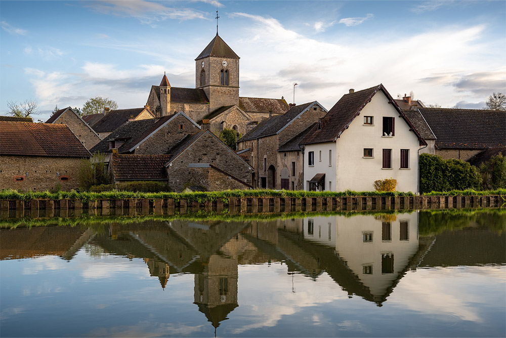
M 480 189 L 481 176 L 476 167 L 460 160 L 420 155 L 420 193 L 431 191 Z

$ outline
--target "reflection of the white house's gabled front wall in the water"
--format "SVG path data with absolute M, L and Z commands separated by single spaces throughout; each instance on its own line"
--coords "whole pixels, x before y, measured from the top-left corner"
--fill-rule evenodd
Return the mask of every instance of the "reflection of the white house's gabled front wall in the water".
M 418 251 L 418 212 L 337 216 L 335 248 L 381 301 Z

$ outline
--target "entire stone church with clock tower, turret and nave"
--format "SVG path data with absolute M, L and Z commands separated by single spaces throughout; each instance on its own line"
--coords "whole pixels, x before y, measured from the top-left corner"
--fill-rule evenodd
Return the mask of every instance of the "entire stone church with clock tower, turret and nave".
M 156 118 L 183 111 L 213 131 L 225 128 L 245 134 L 289 106 L 281 99 L 239 96 L 239 56 L 216 34 L 195 59 L 195 88 L 172 87 L 164 74 L 151 86 L 147 106 Z

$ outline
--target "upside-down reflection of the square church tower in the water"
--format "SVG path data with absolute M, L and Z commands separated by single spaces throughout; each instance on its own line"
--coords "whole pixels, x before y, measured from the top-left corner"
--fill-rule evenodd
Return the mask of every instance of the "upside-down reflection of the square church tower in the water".
M 237 258 L 212 255 L 195 275 L 194 303 L 215 328 L 238 306 L 237 274 Z

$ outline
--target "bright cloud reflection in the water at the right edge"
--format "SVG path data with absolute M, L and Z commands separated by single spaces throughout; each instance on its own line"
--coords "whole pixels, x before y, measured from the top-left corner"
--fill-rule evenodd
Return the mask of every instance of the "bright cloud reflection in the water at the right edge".
M 479 313 L 482 304 L 495 304 L 496 297 L 504 294 L 505 267 L 465 267 L 417 269 L 404 276 L 395 289 L 395 297 L 388 303 L 425 314 L 438 314 L 442 321 L 455 317 L 477 323 L 484 318 Z M 416 274 L 416 275 L 414 275 Z M 497 288 L 497 292 L 475 292 L 477 288 Z

